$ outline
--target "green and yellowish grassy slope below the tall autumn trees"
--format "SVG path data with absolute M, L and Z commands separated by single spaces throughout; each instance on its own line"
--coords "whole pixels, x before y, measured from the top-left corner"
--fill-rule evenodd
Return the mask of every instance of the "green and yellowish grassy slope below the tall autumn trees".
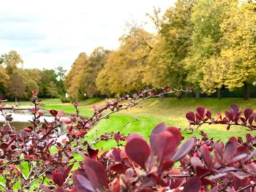
M 91 132 L 89 133 L 89 139 L 97 135 L 103 134 L 108 131 L 121 130 L 122 134 L 129 134 L 131 132 L 138 132 L 148 138 L 151 129 L 157 125 L 157 123 L 166 122 L 168 126 L 176 126 L 179 128 L 186 128 L 188 126 L 185 118 L 186 112 L 195 111 L 196 107 L 203 105 L 210 109 L 213 115 L 216 117 L 217 112 L 224 112 L 228 110 L 230 104 L 236 103 L 241 109 L 251 107 L 256 109 L 256 99 L 249 99 L 244 101 L 243 99 L 150 99 L 142 104 L 142 109 L 136 107 L 128 112 L 119 112 L 118 114 L 110 116 L 109 120 L 102 120 Z M 79 110 L 81 115 L 89 116 L 92 114 L 93 105 L 102 106 L 105 104 L 104 100 L 89 99 L 83 101 L 80 104 Z M 64 110 L 64 112 L 75 112 L 72 104 L 45 104 L 45 109 Z M 138 119 L 138 121 L 129 123 L 129 121 Z M 244 137 L 246 132 L 244 128 L 233 127 L 230 131 L 226 131 L 225 126 L 204 126 L 203 131 L 209 134 L 209 136 L 215 139 L 222 139 L 226 142 L 227 139 L 234 135 L 236 137 Z M 189 138 L 193 135 L 198 135 L 198 131 L 194 134 L 185 134 L 184 137 Z M 96 147 L 103 147 L 109 149 L 111 146 L 115 146 L 115 142 L 101 142 Z

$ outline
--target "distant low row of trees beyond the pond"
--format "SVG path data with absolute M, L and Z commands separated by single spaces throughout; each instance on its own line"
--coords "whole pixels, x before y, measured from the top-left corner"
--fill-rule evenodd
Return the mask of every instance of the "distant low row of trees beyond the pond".
M 29 99 L 31 91 L 39 92 L 41 98 L 64 95 L 64 75 L 61 66 L 54 69 L 23 69 L 20 55 L 11 50 L 0 57 L 0 99 L 18 101 Z

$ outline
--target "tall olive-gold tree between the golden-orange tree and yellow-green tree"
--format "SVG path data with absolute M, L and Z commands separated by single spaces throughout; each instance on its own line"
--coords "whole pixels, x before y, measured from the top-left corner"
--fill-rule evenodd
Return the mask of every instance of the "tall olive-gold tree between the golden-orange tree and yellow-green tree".
M 192 0 L 178 0 L 162 19 L 157 45 L 148 60 L 145 82 L 154 86 L 187 85 L 184 59 L 192 45 Z

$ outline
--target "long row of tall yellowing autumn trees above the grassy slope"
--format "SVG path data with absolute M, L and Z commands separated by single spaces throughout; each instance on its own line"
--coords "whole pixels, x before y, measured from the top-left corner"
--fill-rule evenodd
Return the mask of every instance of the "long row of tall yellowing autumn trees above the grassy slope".
M 235 0 L 178 0 L 151 34 L 138 26 L 117 50 L 80 53 L 67 75 L 73 98 L 138 91 L 146 86 L 191 85 L 201 93 L 234 91 L 256 81 L 256 4 Z

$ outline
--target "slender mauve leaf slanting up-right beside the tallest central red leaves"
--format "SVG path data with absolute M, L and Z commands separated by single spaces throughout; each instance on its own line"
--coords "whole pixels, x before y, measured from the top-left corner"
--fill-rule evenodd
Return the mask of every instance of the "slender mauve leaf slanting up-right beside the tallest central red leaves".
M 181 145 L 181 147 L 173 155 L 173 158 L 172 158 L 173 161 L 176 162 L 181 160 L 181 158 L 184 158 L 184 156 L 187 155 L 187 153 L 189 153 L 190 150 L 192 150 L 194 145 L 195 145 L 194 138 L 187 139 L 187 141 L 184 142 L 184 144 Z

